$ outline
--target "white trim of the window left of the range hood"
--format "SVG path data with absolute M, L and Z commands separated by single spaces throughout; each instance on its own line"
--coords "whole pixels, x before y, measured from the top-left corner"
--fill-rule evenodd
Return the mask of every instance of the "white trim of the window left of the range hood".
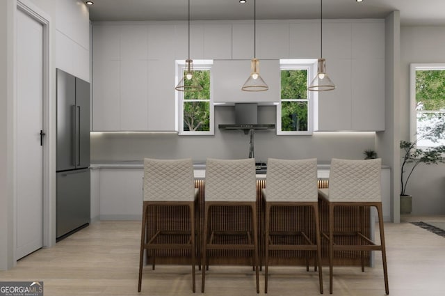
M 176 77 L 175 77 L 175 85 L 179 83 L 184 75 L 184 69 L 186 65 L 185 60 L 177 60 L 176 62 Z M 213 66 L 213 60 L 193 60 L 193 70 L 210 70 Z M 215 134 L 215 124 L 214 124 L 214 111 L 213 107 L 213 75 L 210 74 L 210 99 L 209 99 L 209 131 L 202 132 L 188 132 L 184 131 L 184 92 L 183 91 L 175 91 L 176 93 L 176 127 L 178 130 L 178 134 L 180 136 L 213 136 Z M 193 100 L 188 100 L 189 102 L 193 102 Z

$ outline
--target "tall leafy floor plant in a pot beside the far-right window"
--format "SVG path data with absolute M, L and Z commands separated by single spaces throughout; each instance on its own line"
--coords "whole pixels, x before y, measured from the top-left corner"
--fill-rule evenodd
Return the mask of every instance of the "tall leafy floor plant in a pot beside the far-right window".
M 406 193 L 406 187 L 414 169 L 419 164 L 445 163 L 445 145 L 428 148 L 418 148 L 417 143 L 421 140 L 429 140 L 437 143 L 437 139 L 445 139 L 445 118 L 439 117 L 437 123 L 425 126 L 420 130 L 420 136 L 415 141 L 401 141 L 402 150 L 401 164 L 401 214 L 409 214 L 412 210 L 412 196 Z M 410 166 L 408 165 L 410 164 Z

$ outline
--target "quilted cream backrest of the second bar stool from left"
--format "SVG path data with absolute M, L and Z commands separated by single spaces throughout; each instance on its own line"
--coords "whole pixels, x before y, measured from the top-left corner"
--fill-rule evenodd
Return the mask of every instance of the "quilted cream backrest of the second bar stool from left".
M 205 201 L 257 201 L 255 159 L 206 162 Z

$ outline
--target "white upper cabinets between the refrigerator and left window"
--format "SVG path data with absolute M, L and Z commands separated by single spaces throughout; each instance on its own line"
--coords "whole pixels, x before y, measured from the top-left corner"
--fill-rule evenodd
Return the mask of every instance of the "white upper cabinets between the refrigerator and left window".
M 93 26 L 92 130 L 175 130 L 174 34 L 174 24 Z

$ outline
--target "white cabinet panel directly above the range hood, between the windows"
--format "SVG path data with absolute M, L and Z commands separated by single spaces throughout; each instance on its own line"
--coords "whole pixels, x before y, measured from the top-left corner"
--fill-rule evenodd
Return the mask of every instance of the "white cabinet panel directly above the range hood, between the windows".
M 250 75 L 250 60 L 214 61 L 213 102 L 279 102 L 280 62 L 260 60 L 259 73 L 269 86 L 268 91 L 241 91 Z

